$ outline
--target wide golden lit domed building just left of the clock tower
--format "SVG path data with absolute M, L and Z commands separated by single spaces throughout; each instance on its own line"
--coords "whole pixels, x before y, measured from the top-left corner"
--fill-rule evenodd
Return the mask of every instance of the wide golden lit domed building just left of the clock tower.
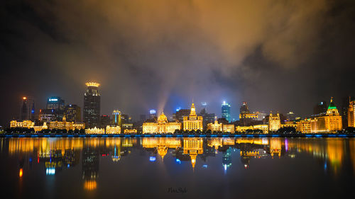
M 181 130 L 181 123 L 168 122 L 168 118 L 166 118 L 164 112 L 159 115 L 158 122 L 143 123 L 143 133 L 173 133 L 175 130 Z

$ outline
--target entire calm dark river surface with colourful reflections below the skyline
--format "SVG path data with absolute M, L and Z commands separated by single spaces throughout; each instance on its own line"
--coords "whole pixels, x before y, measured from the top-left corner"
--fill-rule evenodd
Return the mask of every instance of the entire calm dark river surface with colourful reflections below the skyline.
M 1 198 L 353 198 L 355 139 L 3 138 Z

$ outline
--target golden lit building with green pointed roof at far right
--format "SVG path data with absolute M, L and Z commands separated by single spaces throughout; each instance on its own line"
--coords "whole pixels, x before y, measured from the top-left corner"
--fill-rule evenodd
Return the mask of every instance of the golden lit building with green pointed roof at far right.
M 339 115 L 337 107 L 331 98 L 327 113 L 310 120 L 311 132 L 336 132 L 342 130 L 342 116 Z

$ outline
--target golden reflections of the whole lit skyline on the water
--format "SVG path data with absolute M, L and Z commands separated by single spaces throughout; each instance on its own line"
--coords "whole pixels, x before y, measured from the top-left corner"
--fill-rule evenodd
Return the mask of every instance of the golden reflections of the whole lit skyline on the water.
M 193 170 L 197 161 L 202 161 L 202 167 L 207 168 L 207 159 L 217 155 L 222 156 L 222 166 L 226 170 L 231 167 L 232 156 L 240 156 L 241 165 L 248 169 L 253 164 L 252 159 L 295 158 L 307 154 L 319 160 L 326 171 L 337 174 L 346 164 L 355 172 L 354 139 L 11 138 L 1 139 L 1 143 L 3 154 L 7 152 L 11 157 L 18 157 L 20 178 L 26 176 L 33 164 L 40 164 L 45 174 L 53 176 L 79 165 L 82 154 L 82 178 L 87 190 L 97 187 L 100 158 L 124 161 L 122 158 L 129 156 L 133 147 L 143 147 L 149 154 L 149 161 L 155 161 L 157 156 L 163 160 L 172 155 L 177 163 L 190 161 Z

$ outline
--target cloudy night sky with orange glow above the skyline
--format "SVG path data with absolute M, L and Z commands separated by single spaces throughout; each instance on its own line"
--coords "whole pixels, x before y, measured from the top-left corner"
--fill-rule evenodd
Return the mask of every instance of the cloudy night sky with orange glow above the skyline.
M 82 107 L 97 81 L 102 114 L 190 108 L 312 114 L 355 96 L 355 1 L 1 1 L 0 125 L 22 96 Z

